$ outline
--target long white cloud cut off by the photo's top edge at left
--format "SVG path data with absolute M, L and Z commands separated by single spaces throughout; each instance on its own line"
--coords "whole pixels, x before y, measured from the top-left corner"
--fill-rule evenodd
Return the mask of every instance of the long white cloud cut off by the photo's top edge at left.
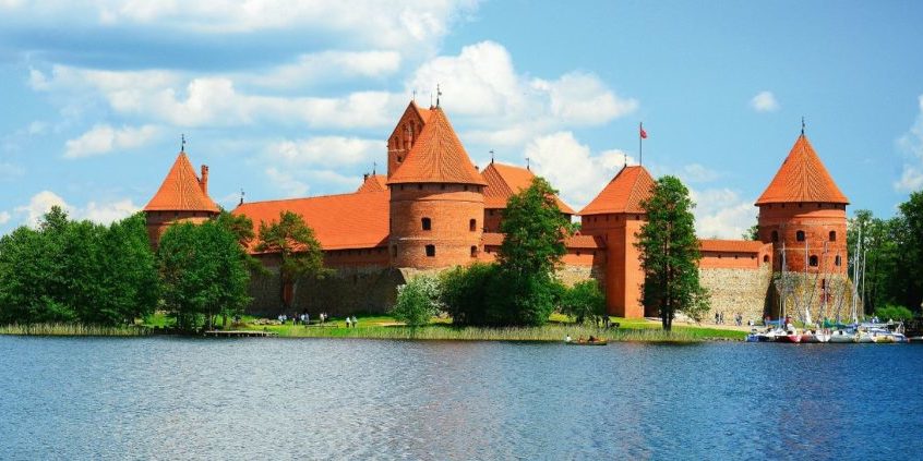
M 288 32 L 302 39 L 337 38 L 353 47 L 377 46 L 431 52 L 452 25 L 477 10 L 476 0 L 84 0 L 44 1 L 16 8 L 2 0 L 19 24 L 67 20 L 74 27 L 122 27 L 176 36 Z

